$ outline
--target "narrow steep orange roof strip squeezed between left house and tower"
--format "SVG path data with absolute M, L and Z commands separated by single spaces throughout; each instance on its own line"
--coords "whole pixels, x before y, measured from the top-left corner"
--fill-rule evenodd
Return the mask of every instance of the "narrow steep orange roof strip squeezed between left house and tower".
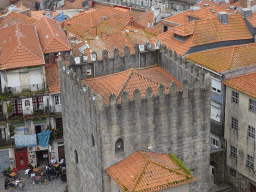
M 59 71 L 57 63 L 45 67 L 46 84 L 49 94 L 60 93 Z

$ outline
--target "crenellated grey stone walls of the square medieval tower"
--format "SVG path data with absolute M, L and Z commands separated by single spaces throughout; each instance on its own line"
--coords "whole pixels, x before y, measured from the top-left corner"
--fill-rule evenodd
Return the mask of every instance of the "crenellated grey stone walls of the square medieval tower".
M 145 98 L 140 96 L 139 90 L 134 90 L 134 99 L 128 100 L 127 93 L 124 93 L 121 103 L 117 103 L 116 96 L 111 94 L 109 104 L 104 105 L 102 96 L 95 95 L 81 83 L 81 77 L 59 59 L 70 191 L 111 191 L 111 178 L 105 169 L 138 149 L 175 154 L 198 180 L 190 185 L 190 191 L 209 191 L 210 77 L 204 77 L 197 68 L 164 46 L 160 51 L 144 54 L 145 62 L 141 62 L 141 67 L 158 61 L 161 67 L 183 82 L 182 90 L 177 90 L 176 84 L 171 83 L 168 94 L 160 85 L 158 94 L 152 95 L 148 87 Z M 149 58 L 153 55 L 152 61 Z M 125 63 L 125 69 L 134 67 L 138 61 L 131 58 L 136 58 L 136 51 L 134 55 L 114 57 L 116 63 L 111 66 L 115 69 L 118 64 Z M 113 58 L 95 62 L 98 75 L 110 72 L 108 67 L 100 68 L 99 63 L 109 66 L 106 64 L 111 60 Z M 92 135 L 95 147 L 92 146 Z M 115 153 L 118 138 L 124 141 L 121 153 Z M 75 149 L 78 163 L 74 159 Z

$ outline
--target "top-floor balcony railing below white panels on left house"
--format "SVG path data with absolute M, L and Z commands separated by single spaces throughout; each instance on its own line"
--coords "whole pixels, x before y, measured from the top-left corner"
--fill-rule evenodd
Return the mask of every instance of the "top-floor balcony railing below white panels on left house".
M 34 92 L 43 90 L 44 83 L 40 84 L 32 84 L 32 85 L 24 85 L 24 86 L 17 86 L 17 87 L 7 87 L 6 91 L 8 94 L 16 94 L 16 93 L 26 93 L 26 92 Z

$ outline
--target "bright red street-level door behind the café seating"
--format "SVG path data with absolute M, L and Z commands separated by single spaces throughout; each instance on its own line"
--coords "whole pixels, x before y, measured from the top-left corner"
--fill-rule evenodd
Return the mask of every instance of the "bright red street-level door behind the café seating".
M 15 149 L 15 159 L 16 159 L 17 170 L 27 169 L 28 167 L 27 147 Z

